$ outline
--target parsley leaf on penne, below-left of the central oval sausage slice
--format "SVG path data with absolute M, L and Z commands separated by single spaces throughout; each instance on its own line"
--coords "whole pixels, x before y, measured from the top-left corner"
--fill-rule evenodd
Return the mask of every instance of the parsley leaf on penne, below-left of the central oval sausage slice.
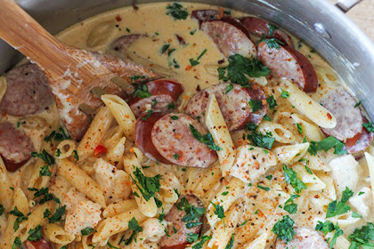
M 161 185 L 159 184 L 159 181 L 161 180 L 161 175 L 158 174 L 154 177 L 147 177 L 145 176 L 139 168 L 135 168 L 134 171 L 134 177 L 131 175 L 131 179 L 134 181 L 136 187 L 138 187 L 139 191 L 142 194 L 142 197 L 146 201 L 149 201 L 151 197 L 155 197 L 156 193 L 159 192 L 159 188 Z M 156 197 L 155 197 L 156 200 Z

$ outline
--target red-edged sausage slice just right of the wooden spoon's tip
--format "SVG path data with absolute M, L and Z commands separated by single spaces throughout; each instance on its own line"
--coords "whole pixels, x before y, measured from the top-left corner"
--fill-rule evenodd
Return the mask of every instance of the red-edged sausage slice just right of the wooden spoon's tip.
M 158 79 L 145 84 L 150 93 L 148 98 L 140 98 L 134 94 L 127 100 L 128 105 L 134 112 L 134 116 L 140 116 L 147 105 L 154 111 L 172 112 L 173 108 L 168 108 L 172 102 L 176 104 L 179 96 L 184 92 L 183 84 L 175 79 Z

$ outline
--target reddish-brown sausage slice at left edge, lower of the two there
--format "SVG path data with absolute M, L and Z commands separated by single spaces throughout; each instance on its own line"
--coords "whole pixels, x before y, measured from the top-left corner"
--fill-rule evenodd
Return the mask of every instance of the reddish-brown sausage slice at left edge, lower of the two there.
M 0 155 L 8 171 L 14 172 L 28 162 L 34 150 L 28 135 L 20 132 L 12 123 L 0 123 Z

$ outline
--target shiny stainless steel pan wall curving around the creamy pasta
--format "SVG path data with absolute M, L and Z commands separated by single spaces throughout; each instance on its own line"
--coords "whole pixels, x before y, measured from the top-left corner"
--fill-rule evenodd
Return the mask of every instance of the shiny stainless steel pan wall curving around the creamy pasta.
M 22 8 L 52 34 L 101 12 L 131 4 L 154 2 L 160 1 L 18 1 Z M 343 3 L 337 4 L 340 9 L 326 0 L 191 0 L 189 2 L 216 4 L 255 14 L 277 23 L 281 28 L 301 38 L 336 68 L 337 73 L 346 81 L 356 97 L 362 100 L 371 119 L 374 119 L 374 44 L 341 11 L 348 10 L 359 1 L 342 0 Z M 0 73 L 2 73 L 20 60 L 20 54 L 0 40 L 0 58 Z

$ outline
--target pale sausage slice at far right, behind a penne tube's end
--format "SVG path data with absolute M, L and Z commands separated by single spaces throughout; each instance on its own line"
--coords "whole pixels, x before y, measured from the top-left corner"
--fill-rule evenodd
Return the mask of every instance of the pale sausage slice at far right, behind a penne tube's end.
M 322 96 L 320 103 L 337 119 L 337 126 L 331 129 L 321 128 L 323 133 L 333 136 L 339 141 L 346 141 L 354 138 L 356 134 L 362 133 L 361 110 L 354 108 L 356 104 L 354 97 L 343 87 L 327 92 Z

